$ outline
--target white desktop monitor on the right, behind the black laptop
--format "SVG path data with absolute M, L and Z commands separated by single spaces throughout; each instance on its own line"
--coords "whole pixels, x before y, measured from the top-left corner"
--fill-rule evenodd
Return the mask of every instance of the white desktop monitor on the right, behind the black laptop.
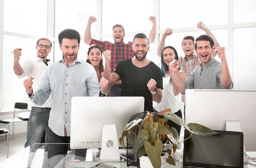
M 256 151 L 255 102 L 256 90 L 186 89 L 185 124 L 243 132 L 246 151 Z M 231 122 L 227 128 L 226 122 Z M 240 123 L 240 127 L 233 122 Z

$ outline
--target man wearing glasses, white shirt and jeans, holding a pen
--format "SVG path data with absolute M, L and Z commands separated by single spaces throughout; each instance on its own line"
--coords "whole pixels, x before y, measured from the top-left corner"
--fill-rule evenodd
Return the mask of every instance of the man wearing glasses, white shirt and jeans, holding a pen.
M 49 52 L 51 52 L 52 41 L 47 38 L 38 39 L 36 43 L 36 57 L 32 60 L 24 60 L 20 63 L 21 48 L 16 48 L 13 50 L 14 55 L 14 65 L 13 70 L 18 78 L 29 78 L 34 77 L 33 88 L 38 89 L 40 76 L 43 70 L 48 65 L 49 59 L 46 59 Z M 25 143 L 25 148 L 30 146 L 28 167 L 31 166 L 36 150 L 39 148 L 43 133 L 45 131 L 45 143 L 48 143 L 48 120 L 49 113 L 52 107 L 51 96 L 45 102 L 44 105 L 38 106 L 35 103 L 31 104 L 31 113 L 28 121 L 28 132 L 27 132 L 27 142 Z M 45 154 L 47 154 L 47 149 L 45 148 Z M 47 165 L 47 157 L 45 157 L 44 165 Z

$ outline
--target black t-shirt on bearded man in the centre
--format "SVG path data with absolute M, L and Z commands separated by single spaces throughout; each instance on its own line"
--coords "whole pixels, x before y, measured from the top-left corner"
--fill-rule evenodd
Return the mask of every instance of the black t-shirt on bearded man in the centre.
M 132 64 L 132 59 L 121 61 L 115 70 L 122 79 L 121 96 L 143 96 L 145 98 L 144 110 L 153 112 L 152 94 L 148 90 L 147 83 L 150 79 L 155 79 L 156 87 L 163 89 L 161 69 L 152 61 L 142 68 Z

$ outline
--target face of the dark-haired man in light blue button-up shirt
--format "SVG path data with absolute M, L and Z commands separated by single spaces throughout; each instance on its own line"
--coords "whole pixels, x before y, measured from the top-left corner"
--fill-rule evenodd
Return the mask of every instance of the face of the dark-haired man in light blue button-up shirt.
M 67 66 L 71 65 L 76 60 L 79 50 L 79 44 L 77 39 L 63 38 L 62 43 L 59 44 L 59 47 L 62 50 L 65 63 L 67 64 Z

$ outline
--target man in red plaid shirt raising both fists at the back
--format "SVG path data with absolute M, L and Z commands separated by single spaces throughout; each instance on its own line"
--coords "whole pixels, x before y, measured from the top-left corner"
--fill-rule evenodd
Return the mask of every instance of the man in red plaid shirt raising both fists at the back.
M 148 36 L 149 44 L 155 41 L 155 33 L 156 33 L 156 19 L 155 16 L 150 16 L 149 20 L 153 23 L 152 29 Z M 111 43 L 110 41 L 99 41 L 96 39 L 92 39 L 91 36 L 91 25 L 93 22 L 96 22 L 97 19 L 94 16 L 90 16 L 88 19 L 88 24 L 85 29 L 84 34 L 84 42 L 86 44 L 92 45 L 97 44 L 99 45 L 103 51 L 111 50 L 111 60 L 110 60 L 110 70 L 111 72 L 115 69 L 115 66 L 120 61 L 131 59 L 134 54 L 132 51 L 132 42 L 124 43 L 124 28 L 121 24 L 116 24 L 113 26 L 113 38 L 115 43 Z M 111 87 L 110 90 L 111 96 L 121 96 L 121 80 L 117 81 L 117 83 Z

